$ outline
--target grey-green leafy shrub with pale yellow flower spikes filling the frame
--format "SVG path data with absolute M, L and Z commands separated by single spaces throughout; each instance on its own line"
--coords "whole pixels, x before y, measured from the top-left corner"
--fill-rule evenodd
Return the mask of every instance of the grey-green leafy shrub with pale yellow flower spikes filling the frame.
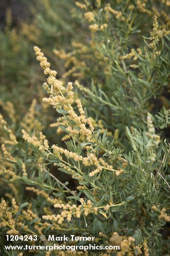
M 13 123 L 0 116 L 2 233 L 87 233 L 114 244 L 116 232 L 122 250 L 98 255 L 169 255 L 169 6 L 76 1 L 80 31 L 89 25 L 90 36 L 54 50 L 66 69 L 60 80 L 34 47 L 48 97 L 39 109 L 32 102 L 16 134 L 15 113 L 2 103 Z M 58 135 L 47 132 L 46 104 Z

